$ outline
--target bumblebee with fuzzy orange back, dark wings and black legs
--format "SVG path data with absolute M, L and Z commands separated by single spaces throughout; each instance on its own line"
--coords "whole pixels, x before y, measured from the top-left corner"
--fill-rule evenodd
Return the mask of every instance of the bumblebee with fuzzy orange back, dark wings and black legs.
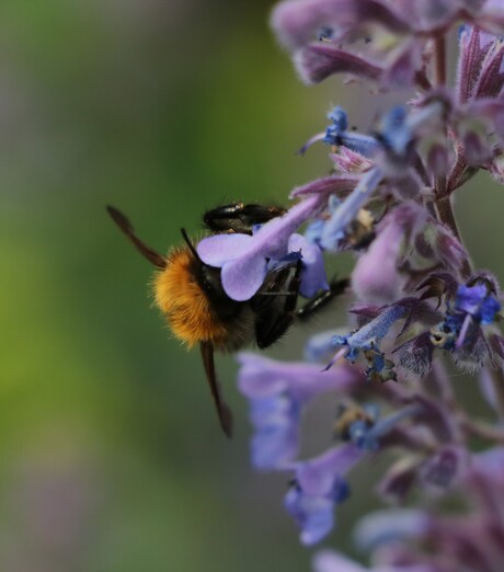
M 206 378 L 225 434 L 232 434 L 232 414 L 217 381 L 214 351 L 234 352 L 250 342 L 265 348 L 278 341 L 296 320 L 303 320 L 335 296 L 348 279 L 333 281 L 329 290 L 296 309 L 301 261 L 283 265 L 266 274 L 259 291 L 247 301 L 231 299 L 220 282 L 220 268 L 205 264 L 185 229 L 184 243 L 159 254 L 138 238 L 123 213 L 113 206 L 107 211 L 136 249 L 156 267 L 153 296 L 175 338 L 188 348 L 199 344 Z M 203 221 L 210 233 L 252 234 L 263 225 L 286 213 L 278 207 L 233 203 L 205 213 Z

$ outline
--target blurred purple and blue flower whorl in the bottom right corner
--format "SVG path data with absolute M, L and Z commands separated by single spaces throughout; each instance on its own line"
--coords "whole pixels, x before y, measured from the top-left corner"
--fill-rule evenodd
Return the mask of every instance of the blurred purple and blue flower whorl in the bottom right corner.
M 389 508 L 364 516 L 356 545 L 373 552 L 365 568 L 333 551 L 321 551 L 314 572 L 497 572 L 504 560 L 504 449 L 473 454 L 460 471 L 458 490 L 472 512 L 438 515 Z

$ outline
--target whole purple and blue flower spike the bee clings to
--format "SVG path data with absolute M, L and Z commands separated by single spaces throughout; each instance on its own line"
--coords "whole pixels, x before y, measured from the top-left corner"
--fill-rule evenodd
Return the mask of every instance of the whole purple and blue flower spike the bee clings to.
M 296 187 L 294 206 L 251 236 L 218 234 L 197 247 L 205 263 L 222 268 L 234 300 L 252 299 L 270 272 L 293 261 L 301 262 L 300 294 L 311 298 L 329 288 L 324 256 L 352 251 L 356 259 L 350 325 L 308 340 L 306 362 L 240 354 L 253 465 L 286 473 L 284 504 L 305 545 L 332 531 L 335 507 L 351 496 L 350 471 L 386 450 L 377 493 L 399 505 L 417 499 L 416 508 L 368 515 L 357 527 L 373 568 L 325 551 L 317 572 L 500 572 L 501 290 L 495 276 L 472 267 L 453 197 L 479 171 L 504 183 L 504 2 L 284 0 L 272 25 L 307 83 L 344 73 L 375 92 L 406 87 L 416 94 L 367 134 L 350 130 L 336 106 L 300 150 L 329 146 L 331 174 Z M 458 402 L 446 358 L 480 377 L 474 387 L 493 422 L 474 420 Z M 316 398 L 334 403 L 334 421 L 327 449 L 303 458 L 301 421 Z M 484 453 L 471 448 L 474 438 Z M 463 517 L 433 501 L 424 508 L 425 499 L 444 495 L 467 503 Z

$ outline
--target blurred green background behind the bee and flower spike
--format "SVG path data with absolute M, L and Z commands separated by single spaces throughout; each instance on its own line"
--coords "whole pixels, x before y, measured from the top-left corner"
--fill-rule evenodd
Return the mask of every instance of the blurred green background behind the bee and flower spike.
M 238 421 L 228 442 L 198 354 L 170 339 L 148 296 L 151 268 L 105 213 L 122 208 L 165 251 L 221 201 L 284 204 L 327 173 L 322 147 L 294 151 L 330 104 L 368 128 L 377 108 L 357 113 L 366 89 L 297 81 L 267 27 L 271 7 L 1 2 L 5 572 L 309 569 L 282 508 L 285 477 L 249 466 L 232 357 L 218 358 Z M 478 225 L 497 227 L 497 190 L 484 179 L 460 206 L 478 263 L 494 265 L 494 239 Z M 306 333 L 270 354 L 298 355 Z M 355 487 L 339 547 L 350 511 L 369 499 L 369 483 Z

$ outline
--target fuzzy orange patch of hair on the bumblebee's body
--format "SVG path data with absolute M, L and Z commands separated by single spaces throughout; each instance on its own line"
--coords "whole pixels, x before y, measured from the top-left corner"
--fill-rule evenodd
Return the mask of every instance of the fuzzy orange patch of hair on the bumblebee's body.
M 170 254 L 167 267 L 154 279 L 156 304 L 169 325 L 188 347 L 199 342 L 226 345 L 228 329 L 211 309 L 194 275 L 194 259 L 187 250 Z

